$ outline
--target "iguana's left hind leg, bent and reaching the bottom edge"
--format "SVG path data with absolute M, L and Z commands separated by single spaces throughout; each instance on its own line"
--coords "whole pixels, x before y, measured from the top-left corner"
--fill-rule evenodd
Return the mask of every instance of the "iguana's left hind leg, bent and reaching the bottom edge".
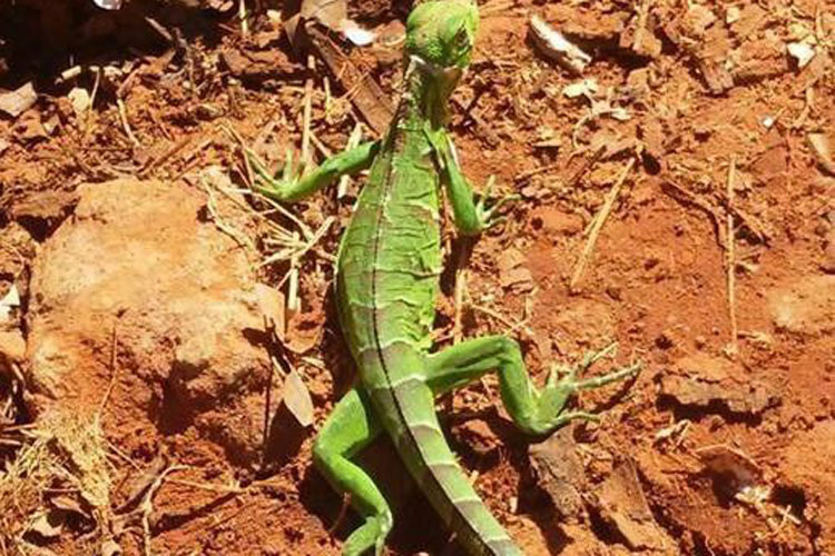
M 351 505 L 365 519 L 345 542 L 345 556 L 358 556 L 371 548 L 381 554 L 392 527 L 392 513 L 380 489 L 350 460 L 382 430 L 367 396 L 355 387 L 336 405 L 313 445 L 318 470 L 335 490 L 351 497 Z

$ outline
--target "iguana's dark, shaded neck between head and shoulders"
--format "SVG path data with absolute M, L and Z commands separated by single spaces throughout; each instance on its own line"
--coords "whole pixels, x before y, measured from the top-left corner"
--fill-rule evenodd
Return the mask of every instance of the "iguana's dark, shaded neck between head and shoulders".
M 401 121 L 410 128 L 429 125 L 435 130 L 444 127 L 449 119 L 450 96 L 461 70 L 436 68 L 414 56 L 406 63 L 399 109 Z

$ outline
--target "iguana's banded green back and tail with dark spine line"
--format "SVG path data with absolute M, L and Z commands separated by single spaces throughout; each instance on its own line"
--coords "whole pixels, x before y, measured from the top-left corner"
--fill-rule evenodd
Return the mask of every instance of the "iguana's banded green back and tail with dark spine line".
M 521 554 L 456 464 L 425 381 L 441 274 L 438 160 L 426 131 L 405 96 L 343 236 L 342 329 L 384 428 L 460 542 L 472 554 Z

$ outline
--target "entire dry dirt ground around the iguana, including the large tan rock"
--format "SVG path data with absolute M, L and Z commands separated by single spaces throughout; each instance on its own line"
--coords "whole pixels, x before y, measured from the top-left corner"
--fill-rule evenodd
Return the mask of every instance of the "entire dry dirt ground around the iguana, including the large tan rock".
M 297 6 L 0 6 L 2 554 L 338 554 L 357 524 L 311 444 L 354 379 L 330 287 L 362 178 L 283 212 L 242 145 L 275 168 L 379 132 L 410 7 L 294 51 Z M 492 376 L 441 400 L 478 490 L 531 555 L 835 554 L 835 4 L 481 10 L 450 128 L 521 199 L 474 245 L 446 227 L 436 344 L 644 368 L 550 439 Z M 362 460 L 390 554 L 460 554 L 386 441 Z

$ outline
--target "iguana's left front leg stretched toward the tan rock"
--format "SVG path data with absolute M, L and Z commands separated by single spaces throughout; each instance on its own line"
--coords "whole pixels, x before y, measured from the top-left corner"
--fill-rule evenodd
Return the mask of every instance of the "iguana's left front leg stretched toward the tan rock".
M 247 151 L 246 156 L 255 169 L 256 181 L 265 183 L 254 183 L 255 190 L 277 201 L 294 202 L 332 183 L 341 176 L 357 173 L 371 167 L 379 151 L 380 141 L 365 142 L 351 150 L 334 155 L 305 176 L 299 176 L 301 171 L 293 168 L 293 153 L 287 152 L 282 179 L 275 179 L 271 176 L 252 151 Z

